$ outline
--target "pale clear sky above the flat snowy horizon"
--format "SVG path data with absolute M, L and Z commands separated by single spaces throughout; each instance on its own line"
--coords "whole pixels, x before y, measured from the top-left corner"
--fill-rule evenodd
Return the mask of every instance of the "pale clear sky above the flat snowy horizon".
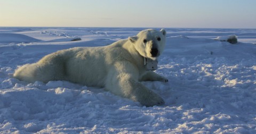
M 0 0 L 0 27 L 256 28 L 255 0 Z

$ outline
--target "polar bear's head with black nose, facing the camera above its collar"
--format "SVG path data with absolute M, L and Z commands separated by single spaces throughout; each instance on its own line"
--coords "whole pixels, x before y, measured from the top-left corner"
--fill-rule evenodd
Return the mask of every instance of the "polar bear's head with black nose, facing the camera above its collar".
M 134 45 L 139 54 L 146 58 L 156 60 L 164 51 L 166 31 L 147 29 L 140 31 L 137 36 L 129 37 L 128 39 Z

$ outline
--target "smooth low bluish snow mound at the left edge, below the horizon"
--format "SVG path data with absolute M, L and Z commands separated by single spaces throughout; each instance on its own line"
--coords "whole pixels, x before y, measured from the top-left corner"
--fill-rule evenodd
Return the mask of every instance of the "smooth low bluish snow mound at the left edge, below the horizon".
M 26 35 L 13 34 L 13 33 L 0 33 L 0 43 L 32 43 L 41 41 Z

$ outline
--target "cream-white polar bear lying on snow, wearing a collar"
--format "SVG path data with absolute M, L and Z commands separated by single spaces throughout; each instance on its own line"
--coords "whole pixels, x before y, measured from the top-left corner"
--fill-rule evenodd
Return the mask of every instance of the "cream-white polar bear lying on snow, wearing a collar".
M 151 70 L 164 51 L 166 31 L 147 29 L 137 36 L 103 47 L 75 47 L 25 64 L 13 77 L 28 82 L 66 80 L 86 86 L 105 87 L 113 94 L 145 106 L 164 104 L 163 98 L 140 81 L 168 80 Z

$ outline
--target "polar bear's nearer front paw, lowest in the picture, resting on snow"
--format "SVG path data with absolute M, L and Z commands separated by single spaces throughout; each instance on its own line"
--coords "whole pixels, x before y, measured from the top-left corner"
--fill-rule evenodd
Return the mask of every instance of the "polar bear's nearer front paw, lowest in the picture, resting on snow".
M 149 106 L 155 106 L 155 105 L 163 105 L 164 104 L 164 99 L 161 98 L 159 95 L 154 93 L 153 91 L 150 91 L 150 95 L 146 95 L 146 98 L 142 98 L 140 103 L 142 105 L 145 105 L 147 107 Z

